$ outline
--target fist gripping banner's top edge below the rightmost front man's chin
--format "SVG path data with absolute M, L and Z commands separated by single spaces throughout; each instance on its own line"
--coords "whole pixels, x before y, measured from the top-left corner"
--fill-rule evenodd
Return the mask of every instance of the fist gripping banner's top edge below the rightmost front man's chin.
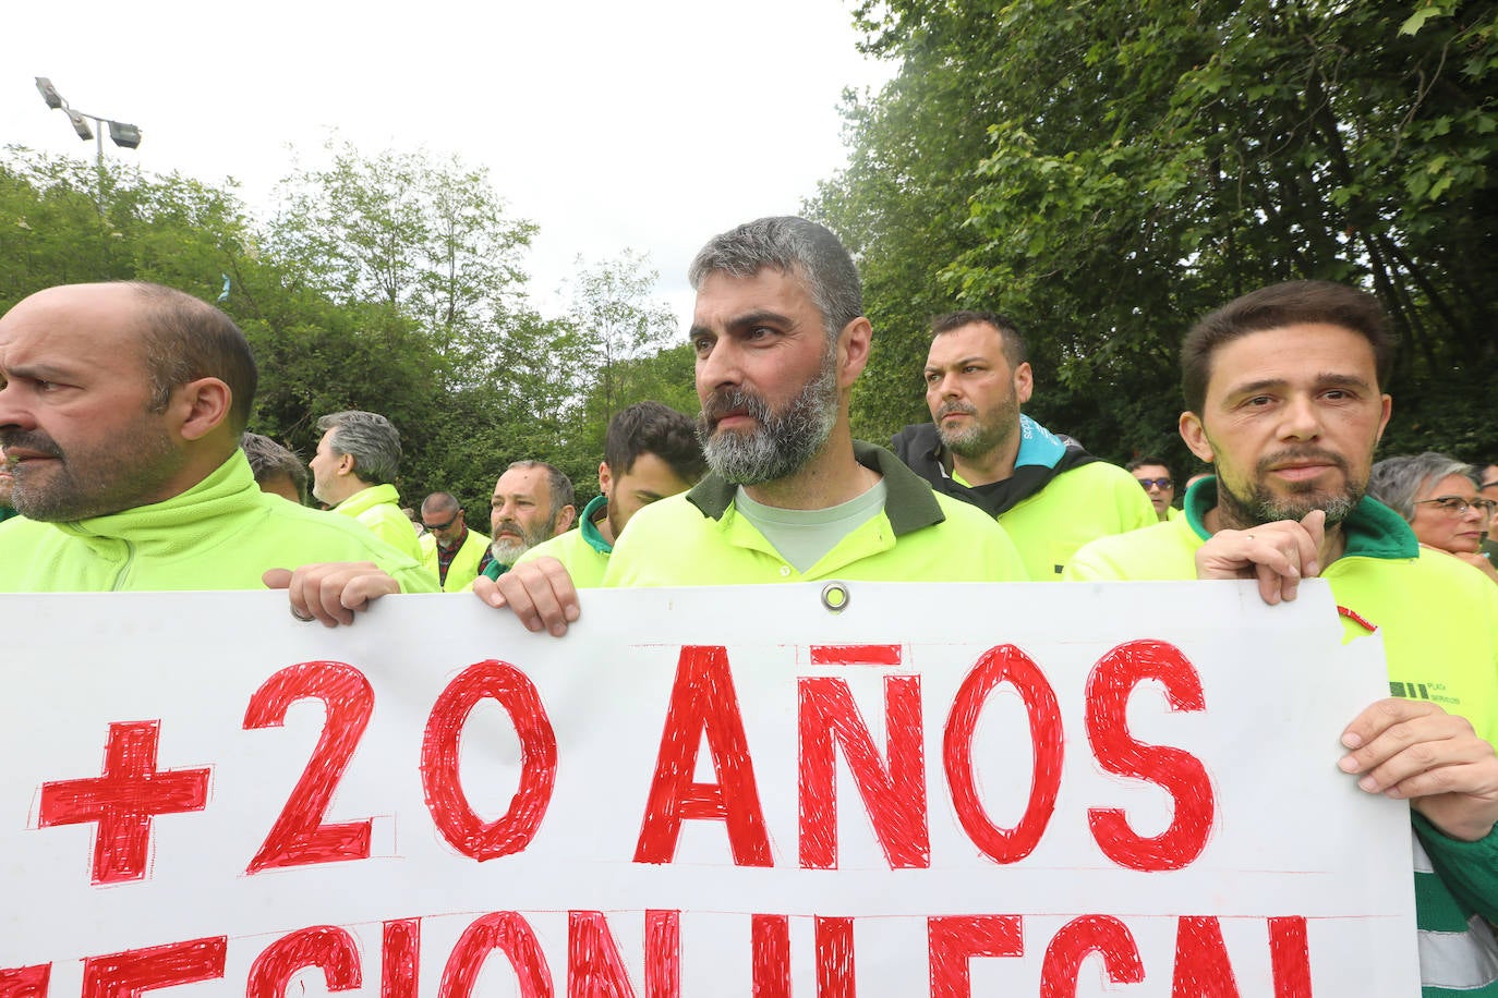
M 1197 549 L 1198 579 L 1258 579 L 1258 594 L 1273 606 L 1296 599 L 1300 579 L 1321 572 L 1326 512 L 1314 509 L 1297 524 L 1281 519 L 1252 530 L 1219 530 Z

